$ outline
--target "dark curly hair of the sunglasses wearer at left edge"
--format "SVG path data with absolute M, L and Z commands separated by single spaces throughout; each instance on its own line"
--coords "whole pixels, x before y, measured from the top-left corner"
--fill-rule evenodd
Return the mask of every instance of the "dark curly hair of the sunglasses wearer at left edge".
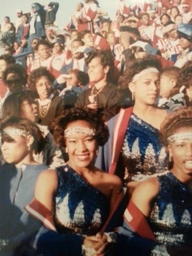
M 21 82 L 21 86 L 26 86 L 27 83 L 27 73 L 26 73 L 26 69 L 23 68 L 20 64 L 16 63 L 16 64 L 12 64 L 10 66 L 8 66 L 4 73 L 3 73 L 3 82 L 6 84 L 7 81 L 7 76 L 10 74 L 17 74 L 19 76 L 20 82 Z

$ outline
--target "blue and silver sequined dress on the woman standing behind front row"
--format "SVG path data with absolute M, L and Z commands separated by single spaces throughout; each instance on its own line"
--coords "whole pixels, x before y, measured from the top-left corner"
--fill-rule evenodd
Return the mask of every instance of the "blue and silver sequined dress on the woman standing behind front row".
M 168 160 L 158 130 L 135 114 L 131 115 L 125 133 L 121 157 L 127 170 L 126 181 L 144 180 L 151 174 L 165 171 Z

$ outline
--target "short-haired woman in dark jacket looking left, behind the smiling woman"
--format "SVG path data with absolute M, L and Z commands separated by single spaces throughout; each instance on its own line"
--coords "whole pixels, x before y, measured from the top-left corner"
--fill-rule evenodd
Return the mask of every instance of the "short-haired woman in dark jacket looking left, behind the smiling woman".
M 118 113 L 121 100 L 117 86 L 111 83 L 114 75 L 113 57 L 108 51 L 91 51 L 86 65 L 91 88 L 79 95 L 75 106 L 95 109 L 107 121 Z

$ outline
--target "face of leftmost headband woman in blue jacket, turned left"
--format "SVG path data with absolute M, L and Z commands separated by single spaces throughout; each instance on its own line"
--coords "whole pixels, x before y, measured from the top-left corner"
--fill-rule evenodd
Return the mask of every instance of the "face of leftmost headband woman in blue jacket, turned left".
M 14 135 L 14 139 L 4 141 L 1 149 L 5 161 L 16 166 L 29 154 L 27 139 L 20 135 Z

